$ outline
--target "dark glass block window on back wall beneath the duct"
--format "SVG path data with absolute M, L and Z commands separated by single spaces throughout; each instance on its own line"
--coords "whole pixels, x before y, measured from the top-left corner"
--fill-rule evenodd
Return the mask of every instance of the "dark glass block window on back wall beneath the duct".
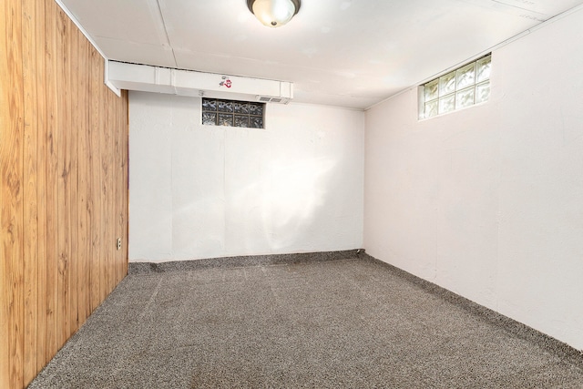
M 264 128 L 264 112 L 264 103 L 202 98 L 202 124 L 206 126 Z

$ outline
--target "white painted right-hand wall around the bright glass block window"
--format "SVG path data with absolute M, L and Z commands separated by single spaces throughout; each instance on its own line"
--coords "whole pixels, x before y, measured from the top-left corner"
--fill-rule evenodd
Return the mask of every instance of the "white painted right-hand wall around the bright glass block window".
M 497 49 L 484 105 L 366 115 L 364 247 L 583 349 L 583 12 Z

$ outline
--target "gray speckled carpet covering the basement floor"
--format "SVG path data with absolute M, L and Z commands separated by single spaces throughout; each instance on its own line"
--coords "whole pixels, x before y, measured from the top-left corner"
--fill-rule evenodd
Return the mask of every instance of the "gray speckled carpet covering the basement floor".
M 30 388 L 583 388 L 583 357 L 366 254 L 119 284 Z

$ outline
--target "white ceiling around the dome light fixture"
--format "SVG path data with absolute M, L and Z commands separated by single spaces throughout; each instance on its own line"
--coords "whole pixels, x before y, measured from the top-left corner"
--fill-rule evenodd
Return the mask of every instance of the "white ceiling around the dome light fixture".
M 366 108 L 583 0 L 303 0 L 280 28 L 246 0 L 62 0 L 119 61 L 294 83 L 294 101 Z

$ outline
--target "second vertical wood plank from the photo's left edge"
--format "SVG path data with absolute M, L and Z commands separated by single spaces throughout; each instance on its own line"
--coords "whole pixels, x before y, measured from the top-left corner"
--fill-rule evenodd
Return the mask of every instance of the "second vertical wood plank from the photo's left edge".
M 37 324 L 37 284 L 38 284 L 38 216 L 36 205 L 36 154 L 37 118 L 36 108 L 36 6 L 33 1 L 22 2 L 22 42 L 24 79 L 24 384 L 29 384 L 36 375 L 36 324 Z

